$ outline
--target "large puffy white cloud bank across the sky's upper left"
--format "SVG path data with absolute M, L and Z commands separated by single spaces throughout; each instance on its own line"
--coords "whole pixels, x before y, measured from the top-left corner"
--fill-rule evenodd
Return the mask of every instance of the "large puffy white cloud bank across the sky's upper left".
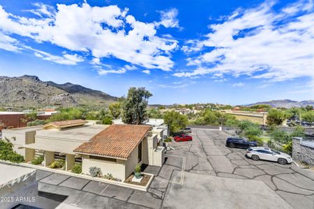
M 127 8 L 57 4 L 53 11 L 39 3 L 31 12 L 38 18 L 13 15 L 0 6 L 0 31 L 147 69 L 170 71 L 174 65 L 170 53 L 177 48 L 177 40 L 156 36 L 156 23 L 135 20 L 127 15 Z

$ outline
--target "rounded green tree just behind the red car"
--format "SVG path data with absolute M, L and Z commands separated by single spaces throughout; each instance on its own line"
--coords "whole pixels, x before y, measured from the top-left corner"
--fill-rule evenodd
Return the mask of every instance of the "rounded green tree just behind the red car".
M 163 118 L 165 119 L 165 124 L 169 127 L 170 134 L 179 132 L 188 124 L 188 118 L 177 111 L 167 111 Z

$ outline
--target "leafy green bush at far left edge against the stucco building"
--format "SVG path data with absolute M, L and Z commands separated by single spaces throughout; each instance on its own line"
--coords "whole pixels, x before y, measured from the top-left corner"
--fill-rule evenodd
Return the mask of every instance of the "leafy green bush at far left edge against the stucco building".
M 0 160 L 20 163 L 24 162 L 24 157 L 13 151 L 12 143 L 0 140 Z

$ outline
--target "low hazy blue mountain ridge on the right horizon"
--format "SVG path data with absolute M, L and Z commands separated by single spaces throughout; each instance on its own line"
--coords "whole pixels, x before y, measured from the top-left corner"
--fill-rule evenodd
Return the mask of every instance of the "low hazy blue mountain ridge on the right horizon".
M 291 107 L 305 107 L 306 105 L 314 106 L 314 100 L 304 100 L 301 102 L 294 100 L 271 100 L 267 102 L 256 102 L 253 104 L 248 104 L 246 106 L 253 106 L 255 104 L 269 104 L 271 107 L 291 108 Z

